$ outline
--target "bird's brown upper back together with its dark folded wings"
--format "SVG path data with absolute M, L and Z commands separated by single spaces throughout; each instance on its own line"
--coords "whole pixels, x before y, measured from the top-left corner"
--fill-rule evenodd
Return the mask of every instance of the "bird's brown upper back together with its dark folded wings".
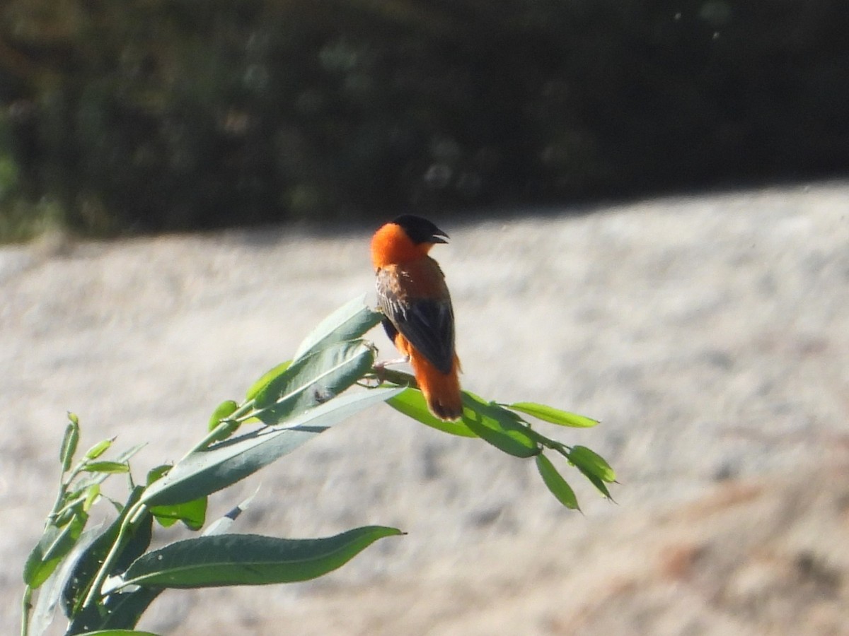
M 398 332 L 441 373 L 454 364 L 454 311 L 436 261 L 390 265 L 378 271 L 380 310 Z M 432 265 L 431 265 L 432 264 Z M 386 332 L 394 340 L 389 326 Z

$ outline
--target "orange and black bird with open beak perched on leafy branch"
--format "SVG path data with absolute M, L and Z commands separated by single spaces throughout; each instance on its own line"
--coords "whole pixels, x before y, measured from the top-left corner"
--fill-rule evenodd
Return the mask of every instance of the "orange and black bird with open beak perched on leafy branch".
M 445 275 L 428 255 L 447 237 L 427 219 L 401 215 L 374 233 L 371 252 L 386 335 L 409 360 L 430 412 L 457 420 L 463 405 L 454 310 Z

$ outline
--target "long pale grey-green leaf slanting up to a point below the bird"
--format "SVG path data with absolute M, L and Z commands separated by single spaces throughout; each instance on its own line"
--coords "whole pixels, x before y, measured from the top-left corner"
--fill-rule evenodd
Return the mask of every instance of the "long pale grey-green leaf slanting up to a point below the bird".
M 148 505 L 180 504 L 227 488 L 274 460 L 306 444 L 319 433 L 402 388 L 373 388 L 346 393 L 298 416 L 285 427 L 264 427 L 187 455 L 165 477 L 151 484 Z

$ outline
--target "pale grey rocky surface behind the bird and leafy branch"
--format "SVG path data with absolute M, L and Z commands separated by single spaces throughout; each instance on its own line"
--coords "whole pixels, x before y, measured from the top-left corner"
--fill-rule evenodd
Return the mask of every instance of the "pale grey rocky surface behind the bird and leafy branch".
M 259 487 L 239 532 L 407 536 L 312 583 L 166 593 L 140 627 L 849 634 L 849 186 L 433 218 L 452 236 L 433 254 L 464 385 L 601 419 L 547 430 L 610 460 L 616 504 L 565 469 L 584 514 L 564 510 L 532 462 L 380 406 L 216 495 L 211 516 Z M 216 404 L 371 293 L 373 229 L 0 249 L 0 633 L 17 631 L 65 411 L 83 448 L 148 442 L 137 477 L 177 460 Z

